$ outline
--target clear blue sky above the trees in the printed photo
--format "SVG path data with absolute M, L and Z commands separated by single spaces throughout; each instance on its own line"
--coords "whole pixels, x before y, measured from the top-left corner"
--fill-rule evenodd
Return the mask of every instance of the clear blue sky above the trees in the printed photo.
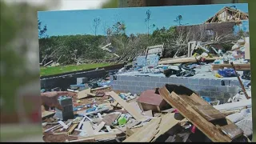
M 248 4 L 222 4 L 203 6 L 161 6 L 161 7 L 139 7 L 139 8 L 118 8 L 102 10 L 60 10 L 41 11 L 38 18 L 42 25 L 47 26 L 49 36 L 94 34 L 93 20 L 100 18 L 101 23 L 97 34 L 104 34 L 104 27 L 112 26 L 114 22 L 123 21 L 126 24 L 126 34 L 146 34 L 145 23 L 146 10 L 151 11 L 150 23 L 155 27 L 177 25 L 174 19 L 178 14 L 182 15 L 182 23 L 195 25 L 205 22 L 224 6 L 236 6 L 238 10 L 248 12 Z

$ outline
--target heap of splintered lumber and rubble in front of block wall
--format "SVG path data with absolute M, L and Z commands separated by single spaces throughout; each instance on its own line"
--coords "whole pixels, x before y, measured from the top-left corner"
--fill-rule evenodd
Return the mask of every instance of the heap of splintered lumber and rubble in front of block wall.
M 184 86 L 166 84 L 139 96 L 110 87 L 89 88 L 78 91 L 72 102 L 68 97 L 59 98 L 62 106 L 73 105 L 73 118 L 72 114 L 64 118 L 70 112 L 65 108 L 62 117 L 56 109 L 48 111 L 48 115 L 42 113 L 45 114 L 43 139 L 45 142 L 248 142 L 252 134 L 251 102 L 235 97 L 232 101 L 235 105 L 211 106 Z

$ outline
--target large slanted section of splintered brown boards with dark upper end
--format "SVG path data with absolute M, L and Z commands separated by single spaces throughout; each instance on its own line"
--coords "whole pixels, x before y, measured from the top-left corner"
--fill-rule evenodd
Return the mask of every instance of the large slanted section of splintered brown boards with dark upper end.
M 221 114 L 218 110 L 214 110 L 214 108 L 210 108 L 210 104 L 203 101 L 203 99 L 198 95 L 184 94 L 184 91 L 186 90 L 182 90 L 181 88 L 183 87 L 166 85 L 159 90 L 159 93 L 162 95 L 162 98 L 166 100 L 166 102 L 176 108 L 180 114 L 182 114 L 186 119 L 192 122 L 194 126 L 206 134 L 211 141 L 231 142 L 232 138 L 238 137 L 239 133 L 236 133 L 235 136 L 233 135 L 232 138 L 230 138 L 228 134 L 224 134 L 222 132 L 225 126 L 228 125 L 226 118 L 223 118 L 223 114 Z M 206 108 L 206 110 L 203 110 L 203 108 Z M 218 121 L 214 123 L 210 122 L 214 119 L 218 119 Z M 218 127 L 216 125 L 218 125 Z M 219 126 L 224 126 L 222 127 L 222 131 L 218 129 Z M 238 130 L 238 127 L 233 126 L 232 130 Z

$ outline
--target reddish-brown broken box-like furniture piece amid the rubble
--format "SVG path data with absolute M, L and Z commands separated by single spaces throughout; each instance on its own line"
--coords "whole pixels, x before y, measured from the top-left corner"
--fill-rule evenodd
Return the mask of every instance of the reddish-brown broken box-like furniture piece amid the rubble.
M 160 112 L 169 105 L 159 94 L 155 94 L 155 90 L 142 92 L 137 102 L 142 111 L 152 110 L 153 112 Z

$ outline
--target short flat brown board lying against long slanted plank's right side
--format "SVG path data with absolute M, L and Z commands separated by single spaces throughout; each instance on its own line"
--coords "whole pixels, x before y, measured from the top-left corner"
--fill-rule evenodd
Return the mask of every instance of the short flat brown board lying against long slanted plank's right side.
M 203 118 L 206 118 L 207 121 L 211 122 L 217 119 L 226 118 L 219 110 L 214 109 L 213 106 L 202 105 L 202 106 L 193 106 L 194 110 L 201 114 Z

